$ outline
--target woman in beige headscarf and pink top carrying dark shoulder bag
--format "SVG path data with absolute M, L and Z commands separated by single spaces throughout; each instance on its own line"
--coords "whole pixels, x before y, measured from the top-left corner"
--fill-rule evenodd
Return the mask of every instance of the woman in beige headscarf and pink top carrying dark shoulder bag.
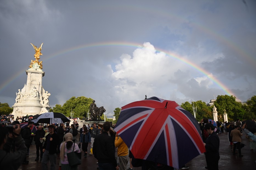
M 80 149 L 78 145 L 72 141 L 73 135 L 71 133 L 65 134 L 65 141 L 60 145 L 60 160 L 61 160 L 61 170 L 77 170 L 77 166 L 69 166 L 69 162 L 67 160 L 67 153 L 74 152 L 79 153 Z

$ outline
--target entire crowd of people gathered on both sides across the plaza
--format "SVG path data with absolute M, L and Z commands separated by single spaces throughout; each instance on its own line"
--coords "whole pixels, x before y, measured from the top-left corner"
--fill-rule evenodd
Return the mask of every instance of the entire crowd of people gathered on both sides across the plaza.
M 2 115 L 2 118 L 4 116 Z M 162 165 L 146 160 L 135 159 L 129 151 L 129 148 L 122 140 L 122 138 L 113 130 L 112 122 L 105 122 L 101 127 L 99 124 L 93 123 L 91 125 L 83 125 L 80 127 L 76 120 L 73 122 L 66 122 L 65 124 L 38 124 L 35 133 L 31 132 L 30 127 L 33 122 L 29 121 L 27 116 L 24 116 L 24 122 L 27 122 L 25 128 L 20 128 L 19 124 L 22 120 L 17 117 L 17 120 L 11 122 L 12 116 L 5 116 L 2 119 L 0 126 L 0 167 L 8 165 L 9 169 L 18 169 L 21 164 L 29 164 L 27 156 L 29 156 L 29 148 L 32 140 L 36 145 L 36 159 L 42 164 L 42 169 L 48 169 L 47 163 L 50 163 L 50 169 L 77 169 L 78 166 L 70 166 L 68 153 L 83 152 L 83 157 L 87 154 L 94 155 L 98 161 L 99 169 L 120 169 L 126 170 L 127 164 L 130 161 L 128 170 L 133 167 L 141 166 L 142 169 L 152 169 L 158 166 L 161 169 L 174 169 L 170 166 Z M 22 122 L 23 122 L 22 121 Z M 8 122 L 8 123 L 7 123 Z M 218 137 L 221 133 L 228 133 L 228 142 L 234 156 L 243 157 L 241 148 L 241 136 L 243 131 L 249 139 L 251 151 L 256 149 L 256 126 L 255 121 L 243 121 L 239 119 L 232 122 L 216 122 L 216 126 L 212 124 L 209 119 L 204 118 L 199 122 L 202 133 L 202 140 L 206 148 L 206 169 L 218 169 L 218 161 L 220 159 L 219 147 L 220 139 Z M 77 135 L 79 134 L 78 143 L 75 143 Z M 88 145 L 90 150 L 88 151 Z M 81 150 L 80 150 L 81 148 Z M 117 156 L 115 151 L 117 149 Z M 56 162 L 57 156 L 60 157 L 60 162 Z M 10 160 L 15 161 L 15 164 L 6 164 Z M 256 161 L 255 161 L 256 163 Z M 57 165 L 56 165 L 57 164 Z M 184 165 L 181 169 L 188 169 Z

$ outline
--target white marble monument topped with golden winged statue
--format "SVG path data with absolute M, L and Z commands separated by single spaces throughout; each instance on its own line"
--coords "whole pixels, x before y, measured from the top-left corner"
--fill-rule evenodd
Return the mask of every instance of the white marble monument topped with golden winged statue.
M 27 84 L 21 90 L 18 89 L 18 93 L 16 92 L 15 104 L 12 106 L 14 117 L 26 116 L 27 114 L 36 115 L 50 111 L 48 98 L 51 94 L 45 91 L 42 86 L 44 72 L 42 61 L 38 61 L 40 55 L 43 55 L 41 53 L 42 45 L 43 43 L 40 48 L 33 45 L 36 60 L 31 60 L 29 69 L 26 70 Z

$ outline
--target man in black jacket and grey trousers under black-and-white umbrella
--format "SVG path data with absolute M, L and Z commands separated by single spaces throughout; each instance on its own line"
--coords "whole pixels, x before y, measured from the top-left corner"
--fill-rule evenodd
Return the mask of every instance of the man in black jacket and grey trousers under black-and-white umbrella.
M 42 169 L 47 170 L 47 163 L 50 160 L 51 170 L 55 170 L 56 157 L 57 157 L 57 145 L 59 137 L 54 133 L 54 125 L 48 127 L 49 134 L 46 136 L 45 143 L 43 146 L 43 159 Z

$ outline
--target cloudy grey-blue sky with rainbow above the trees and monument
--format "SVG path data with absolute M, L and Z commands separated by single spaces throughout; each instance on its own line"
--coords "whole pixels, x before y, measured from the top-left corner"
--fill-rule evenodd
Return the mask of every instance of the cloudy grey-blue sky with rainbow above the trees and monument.
M 107 116 L 157 96 L 182 104 L 256 95 L 256 1 L 0 3 L 0 102 L 15 103 L 43 43 L 49 104 L 92 98 Z

